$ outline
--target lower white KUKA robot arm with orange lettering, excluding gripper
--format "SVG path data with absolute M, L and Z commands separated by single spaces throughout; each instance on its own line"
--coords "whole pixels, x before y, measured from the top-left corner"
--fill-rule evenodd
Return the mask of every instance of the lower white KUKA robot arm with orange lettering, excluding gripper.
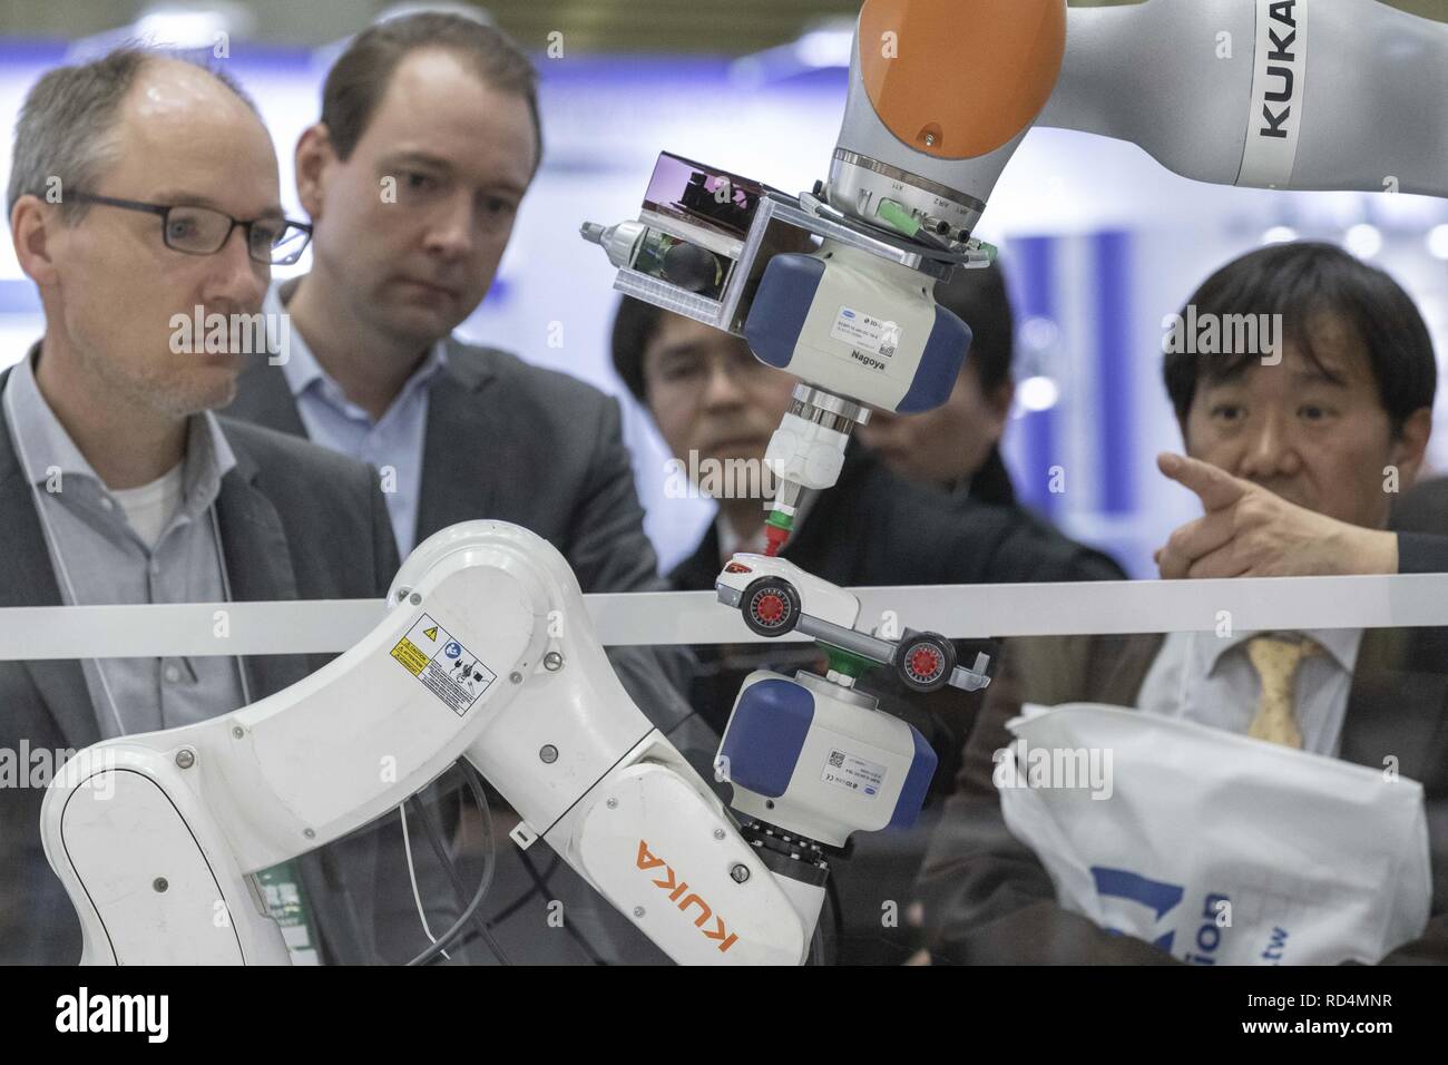
M 284 964 L 248 874 L 371 822 L 459 756 L 521 814 L 518 845 L 552 845 L 675 961 L 805 958 L 822 887 L 770 871 L 628 700 L 552 545 L 453 526 L 413 552 L 388 604 L 285 691 L 67 764 L 42 836 L 84 962 Z

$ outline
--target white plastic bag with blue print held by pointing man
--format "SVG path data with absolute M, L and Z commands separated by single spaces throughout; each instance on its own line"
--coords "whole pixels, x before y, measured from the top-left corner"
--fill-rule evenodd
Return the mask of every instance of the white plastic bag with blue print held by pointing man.
M 1009 727 L 1006 826 L 1103 929 L 1187 962 L 1316 965 L 1376 962 L 1428 922 L 1416 781 L 1090 703 Z

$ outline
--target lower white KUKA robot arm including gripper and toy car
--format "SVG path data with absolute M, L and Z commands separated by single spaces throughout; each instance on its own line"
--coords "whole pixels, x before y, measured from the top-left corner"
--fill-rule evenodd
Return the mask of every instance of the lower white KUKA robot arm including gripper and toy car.
M 919 733 L 854 678 L 891 665 L 919 691 L 975 690 L 988 659 L 967 669 L 933 633 L 860 632 L 853 594 L 783 559 L 740 555 L 720 598 L 763 635 L 799 627 L 831 648 L 828 677 L 750 677 L 717 761 L 741 823 L 630 701 L 557 549 L 466 522 L 423 542 L 378 626 L 311 677 L 65 764 L 41 833 L 80 916 L 81 961 L 285 964 L 249 874 L 369 823 L 465 758 L 521 816 L 518 846 L 549 843 L 675 961 L 801 964 L 828 849 L 914 823 L 935 769 Z

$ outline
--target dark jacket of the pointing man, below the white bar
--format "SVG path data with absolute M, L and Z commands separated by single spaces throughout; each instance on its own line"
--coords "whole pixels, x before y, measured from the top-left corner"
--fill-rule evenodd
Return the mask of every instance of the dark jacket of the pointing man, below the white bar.
M 1131 936 L 1106 935 L 1056 904 L 1030 848 L 1001 816 L 993 752 L 1022 703 L 1135 706 L 1163 636 L 1067 636 L 1005 643 L 1001 669 L 966 743 L 918 893 L 927 945 L 938 961 L 973 964 L 1170 964 Z M 1448 961 L 1448 630 L 1370 629 L 1363 635 L 1342 724 L 1341 758 L 1423 784 L 1432 865 L 1425 936 L 1389 961 Z

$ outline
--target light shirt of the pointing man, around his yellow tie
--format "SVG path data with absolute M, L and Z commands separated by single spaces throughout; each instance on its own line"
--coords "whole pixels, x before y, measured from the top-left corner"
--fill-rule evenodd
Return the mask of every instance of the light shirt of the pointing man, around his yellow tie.
M 1261 701 L 1261 678 L 1247 658 L 1247 640 L 1257 635 L 1169 633 L 1141 684 L 1140 707 L 1245 735 Z M 1363 630 L 1309 629 L 1300 635 L 1325 652 L 1297 665 L 1293 713 L 1302 749 L 1337 758 Z

